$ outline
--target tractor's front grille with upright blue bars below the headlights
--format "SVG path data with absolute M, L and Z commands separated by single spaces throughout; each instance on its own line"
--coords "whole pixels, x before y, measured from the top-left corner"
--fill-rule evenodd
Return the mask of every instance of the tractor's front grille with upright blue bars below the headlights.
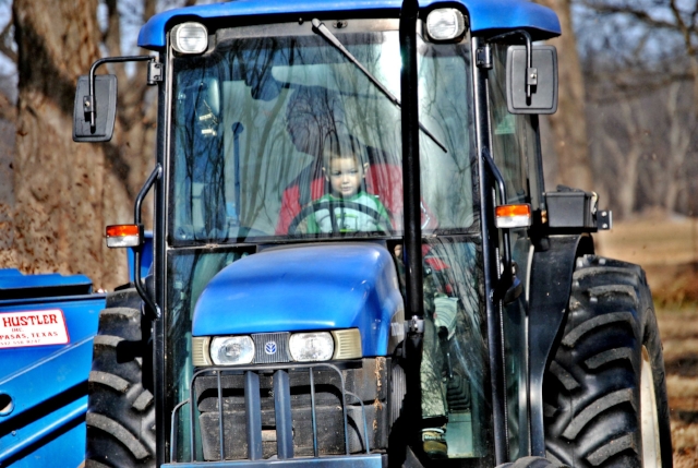
M 262 338 L 255 340 L 257 352 L 276 340 L 274 335 L 257 336 Z M 172 412 L 172 428 L 179 427 L 179 409 L 189 406 L 190 427 L 178 430 L 190 434 L 185 452 L 203 455 L 198 461 L 365 456 L 371 449 L 385 448 L 389 408 L 386 359 L 341 365 L 200 370 L 194 374 L 190 399 Z M 173 433 L 172 440 L 177 439 Z M 201 441 L 198 448 L 195 441 Z M 194 458 L 180 461 L 196 461 Z

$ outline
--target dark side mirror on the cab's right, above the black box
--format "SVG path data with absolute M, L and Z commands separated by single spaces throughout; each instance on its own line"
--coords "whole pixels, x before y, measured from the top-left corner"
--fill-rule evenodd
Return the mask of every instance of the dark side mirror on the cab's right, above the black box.
M 510 46 L 506 56 L 506 103 L 510 113 L 555 113 L 557 110 L 557 49 Z M 530 88 L 530 92 L 529 92 Z

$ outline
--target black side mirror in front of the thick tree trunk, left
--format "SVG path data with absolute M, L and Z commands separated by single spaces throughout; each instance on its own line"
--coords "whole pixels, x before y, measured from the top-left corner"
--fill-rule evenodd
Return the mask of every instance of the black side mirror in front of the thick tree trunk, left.
M 74 142 L 108 142 L 111 140 L 117 117 L 117 76 L 95 76 L 94 93 L 93 99 L 89 99 L 89 76 L 80 76 L 73 109 Z M 91 122 L 93 107 L 94 125 Z

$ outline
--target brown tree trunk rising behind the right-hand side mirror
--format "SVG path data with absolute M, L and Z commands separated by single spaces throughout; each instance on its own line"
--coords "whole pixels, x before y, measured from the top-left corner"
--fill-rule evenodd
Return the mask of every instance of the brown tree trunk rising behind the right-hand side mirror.
M 550 43 L 557 47 L 559 96 L 557 112 L 550 116 L 550 127 L 557 156 L 557 181 L 565 185 L 593 190 L 587 121 L 585 83 L 577 53 L 577 39 L 571 27 L 570 0 L 535 0 L 553 9 L 563 35 Z

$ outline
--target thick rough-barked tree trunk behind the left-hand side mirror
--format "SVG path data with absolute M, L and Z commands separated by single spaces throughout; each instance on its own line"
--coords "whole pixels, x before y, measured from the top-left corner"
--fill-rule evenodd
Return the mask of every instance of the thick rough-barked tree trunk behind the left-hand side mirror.
M 107 251 L 103 239 L 105 213 L 111 212 L 105 188 L 112 183 L 104 146 L 72 141 L 76 79 L 99 58 L 97 4 L 14 1 L 20 75 L 14 250 L 25 273 L 82 273 L 96 287 L 113 287 L 125 279 L 125 255 Z

